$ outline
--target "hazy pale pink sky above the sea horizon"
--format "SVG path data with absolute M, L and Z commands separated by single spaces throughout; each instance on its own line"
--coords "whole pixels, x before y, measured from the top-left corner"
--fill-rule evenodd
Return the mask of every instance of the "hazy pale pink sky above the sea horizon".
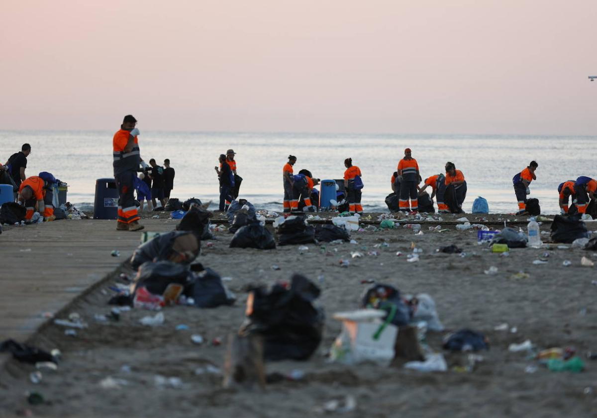
M 595 0 L 0 4 L 0 129 L 597 133 Z

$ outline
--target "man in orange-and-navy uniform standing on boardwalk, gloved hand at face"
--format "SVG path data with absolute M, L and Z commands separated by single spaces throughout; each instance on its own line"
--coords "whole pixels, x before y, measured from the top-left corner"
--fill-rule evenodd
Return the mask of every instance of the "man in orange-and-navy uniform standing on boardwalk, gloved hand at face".
M 139 150 L 139 130 L 135 127 L 137 119 L 133 115 L 124 116 L 121 128 L 114 134 L 113 146 L 113 167 L 116 188 L 118 189 L 118 222 L 117 230 L 141 230 L 143 225 L 139 223 L 139 213 L 135 205 L 135 177 L 139 165 L 148 167 L 141 159 Z

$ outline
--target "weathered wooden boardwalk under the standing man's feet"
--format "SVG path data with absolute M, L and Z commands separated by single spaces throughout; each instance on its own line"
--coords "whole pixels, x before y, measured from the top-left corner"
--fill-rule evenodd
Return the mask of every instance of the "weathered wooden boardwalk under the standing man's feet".
M 177 220 L 144 219 L 165 232 Z M 27 340 L 72 299 L 113 271 L 140 243 L 141 232 L 116 231 L 116 221 L 61 220 L 7 227 L 0 235 L 0 342 Z M 120 257 L 112 257 L 112 250 Z

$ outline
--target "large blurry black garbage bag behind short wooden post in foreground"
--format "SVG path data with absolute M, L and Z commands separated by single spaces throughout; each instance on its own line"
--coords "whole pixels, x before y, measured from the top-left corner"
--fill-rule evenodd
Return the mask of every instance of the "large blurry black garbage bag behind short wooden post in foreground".
M 292 276 L 290 288 L 280 283 L 269 290 L 253 288 L 239 334 L 263 337 L 266 360 L 306 360 L 319 346 L 324 328 L 324 311 L 313 305 L 319 293 L 312 281 L 298 274 Z

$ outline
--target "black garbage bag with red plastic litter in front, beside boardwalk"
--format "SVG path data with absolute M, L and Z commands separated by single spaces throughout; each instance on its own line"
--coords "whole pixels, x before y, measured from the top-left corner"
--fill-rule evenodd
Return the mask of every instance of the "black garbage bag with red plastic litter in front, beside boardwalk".
M 137 273 L 133 296 L 141 287 L 145 287 L 149 293 L 161 295 L 170 284 L 180 284 L 186 288 L 192 281 L 193 273 L 187 266 L 168 261 L 143 263 Z

